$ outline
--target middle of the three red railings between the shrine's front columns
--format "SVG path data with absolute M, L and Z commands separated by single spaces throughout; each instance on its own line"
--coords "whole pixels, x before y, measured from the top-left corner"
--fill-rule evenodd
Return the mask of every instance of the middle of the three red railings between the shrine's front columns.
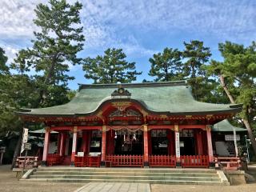
M 150 164 L 150 167 L 153 167 L 153 166 L 175 167 L 176 156 L 175 155 L 149 155 L 149 164 Z

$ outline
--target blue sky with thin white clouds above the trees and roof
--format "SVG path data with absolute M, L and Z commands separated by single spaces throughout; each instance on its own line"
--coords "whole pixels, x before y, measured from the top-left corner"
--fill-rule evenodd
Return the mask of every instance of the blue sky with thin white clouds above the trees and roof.
M 34 8 L 46 0 L 0 1 L 0 46 L 9 63 L 18 50 L 30 47 Z M 68 1 L 70 3 L 73 0 Z M 183 50 L 183 42 L 200 40 L 210 46 L 212 58 L 221 60 L 218 42 L 249 45 L 256 38 L 255 0 L 83 0 L 81 18 L 86 42 L 83 58 L 102 54 L 108 47 L 122 48 L 127 60 L 143 71 L 137 82 L 152 79 L 148 59 L 165 47 Z M 82 66 L 70 68 L 78 83 L 90 83 Z

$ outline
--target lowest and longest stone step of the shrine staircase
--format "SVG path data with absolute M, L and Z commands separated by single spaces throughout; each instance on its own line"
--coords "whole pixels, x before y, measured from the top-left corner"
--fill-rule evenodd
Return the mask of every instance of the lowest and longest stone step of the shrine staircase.
M 30 178 L 26 181 L 36 182 L 136 182 L 136 183 L 150 183 L 150 184 L 174 184 L 174 185 L 218 185 L 228 186 L 229 182 L 210 182 L 210 181 L 182 181 L 182 180 L 126 180 L 126 179 L 71 179 L 71 178 Z

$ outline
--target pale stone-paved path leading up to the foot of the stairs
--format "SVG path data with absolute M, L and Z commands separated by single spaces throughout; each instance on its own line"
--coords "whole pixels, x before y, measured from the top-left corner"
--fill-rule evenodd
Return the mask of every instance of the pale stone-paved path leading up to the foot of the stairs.
M 89 182 L 74 192 L 150 192 L 149 183 Z

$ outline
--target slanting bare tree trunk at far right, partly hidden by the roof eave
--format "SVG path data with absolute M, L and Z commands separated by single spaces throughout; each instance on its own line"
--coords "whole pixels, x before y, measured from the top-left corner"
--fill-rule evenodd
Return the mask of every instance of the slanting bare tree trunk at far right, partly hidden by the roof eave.
M 225 90 L 227 97 L 230 99 L 230 102 L 232 104 L 235 104 L 234 98 L 233 98 L 232 94 L 230 94 L 230 90 L 228 90 L 228 88 L 226 86 L 225 78 L 223 77 L 222 74 L 220 74 L 218 77 L 220 79 L 223 89 Z M 246 116 L 247 116 L 247 113 L 246 113 Z M 247 120 L 247 118 L 246 119 L 242 118 L 242 122 L 246 126 L 246 130 L 247 130 L 248 136 L 250 138 L 250 142 L 253 146 L 254 154 L 256 154 L 256 141 L 255 141 L 254 134 L 253 134 L 253 131 L 250 126 L 250 122 Z

